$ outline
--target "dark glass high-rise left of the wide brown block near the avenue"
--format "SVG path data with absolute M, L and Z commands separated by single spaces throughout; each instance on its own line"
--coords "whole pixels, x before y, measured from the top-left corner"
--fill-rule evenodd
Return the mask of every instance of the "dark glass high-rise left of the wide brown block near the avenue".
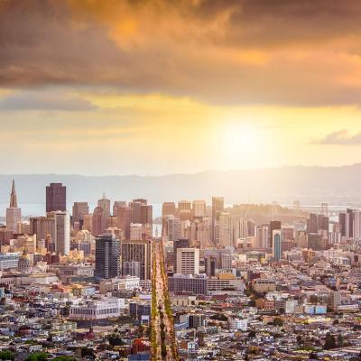
M 119 276 L 119 270 L 120 241 L 114 235 L 98 236 L 94 274 L 101 278 L 114 278 Z

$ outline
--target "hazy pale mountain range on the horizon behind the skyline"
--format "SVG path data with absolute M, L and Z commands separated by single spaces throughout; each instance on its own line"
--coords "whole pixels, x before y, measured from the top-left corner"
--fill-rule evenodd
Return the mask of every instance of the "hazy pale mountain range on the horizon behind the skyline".
M 164 176 L 0 175 L 0 203 L 8 202 L 11 180 L 19 203 L 43 203 L 45 186 L 62 182 L 68 203 L 95 203 L 103 191 L 113 200 L 146 198 L 153 203 L 224 196 L 227 204 L 253 202 L 361 204 L 361 163 L 342 167 L 287 166 L 243 171 L 203 171 Z

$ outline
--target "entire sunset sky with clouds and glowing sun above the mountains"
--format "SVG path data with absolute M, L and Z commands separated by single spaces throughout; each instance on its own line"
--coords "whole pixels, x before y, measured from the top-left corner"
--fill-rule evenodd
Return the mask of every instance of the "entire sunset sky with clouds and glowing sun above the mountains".
M 361 162 L 360 18 L 356 0 L 2 0 L 2 172 Z

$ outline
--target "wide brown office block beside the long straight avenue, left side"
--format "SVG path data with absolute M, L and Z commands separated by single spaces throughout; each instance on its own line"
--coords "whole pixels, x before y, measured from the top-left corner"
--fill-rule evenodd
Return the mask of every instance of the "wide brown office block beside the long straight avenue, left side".
M 151 279 L 151 241 L 124 241 L 121 247 L 122 263 L 139 262 L 141 280 Z M 124 271 L 124 270 L 123 270 Z M 125 275 L 123 273 L 123 275 Z

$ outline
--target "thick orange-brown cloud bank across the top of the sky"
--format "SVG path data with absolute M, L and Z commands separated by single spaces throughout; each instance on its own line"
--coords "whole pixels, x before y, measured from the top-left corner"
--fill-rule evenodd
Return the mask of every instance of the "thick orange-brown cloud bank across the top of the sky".
M 353 0 L 5 0 L 0 85 L 358 105 L 360 18 Z

